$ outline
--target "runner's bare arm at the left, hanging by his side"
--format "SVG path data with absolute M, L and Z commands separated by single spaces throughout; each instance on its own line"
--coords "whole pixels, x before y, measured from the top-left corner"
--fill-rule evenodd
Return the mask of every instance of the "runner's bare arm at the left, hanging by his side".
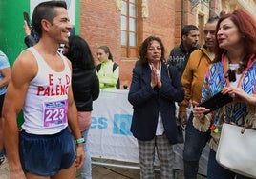
M 11 172 L 22 173 L 18 152 L 17 115 L 36 70 L 37 66 L 29 51 L 24 51 L 17 57 L 11 70 L 11 80 L 3 106 L 4 144 Z

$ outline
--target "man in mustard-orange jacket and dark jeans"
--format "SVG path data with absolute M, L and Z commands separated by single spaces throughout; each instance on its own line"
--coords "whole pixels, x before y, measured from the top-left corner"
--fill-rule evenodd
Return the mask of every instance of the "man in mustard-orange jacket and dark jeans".
M 205 44 L 203 48 L 194 50 L 188 59 L 186 68 L 181 77 L 184 87 L 185 97 L 179 103 L 179 120 L 181 125 L 186 125 L 185 142 L 183 151 L 183 165 L 185 179 L 196 179 L 199 169 L 199 160 L 206 143 L 210 139 L 210 133 L 200 132 L 193 127 L 193 113 L 190 113 L 187 121 L 187 108 L 191 106 L 191 101 L 201 101 L 201 90 L 203 85 L 204 72 L 213 61 L 215 45 L 215 28 L 219 18 L 210 18 L 204 26 L 203 38 Z M 187 123 L 188 122 L 188 123 Z

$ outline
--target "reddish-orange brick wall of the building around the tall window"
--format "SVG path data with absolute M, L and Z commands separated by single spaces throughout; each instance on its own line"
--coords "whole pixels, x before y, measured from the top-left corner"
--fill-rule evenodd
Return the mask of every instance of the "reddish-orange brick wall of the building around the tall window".
M 144 40 L 149 35 L 160 37 L 167 58 L 170 50 L 181 43 L 181 0 L 149 0 L 148 11 L 149 16 L 139 21 L 142 27 L 140 39 Z M 195 22 L 195 15 L 189 16 L 187 21 Z M 96 63 L 97 47 L 109 46 L 114 61 L 120 66 L 121 87 L 124 84 L 130 86 L 137 58 L 127 59 L 120 55 L 120 11 L 116 1 L 80 0 L 80 25 L 80 36 L 89 43 Z

